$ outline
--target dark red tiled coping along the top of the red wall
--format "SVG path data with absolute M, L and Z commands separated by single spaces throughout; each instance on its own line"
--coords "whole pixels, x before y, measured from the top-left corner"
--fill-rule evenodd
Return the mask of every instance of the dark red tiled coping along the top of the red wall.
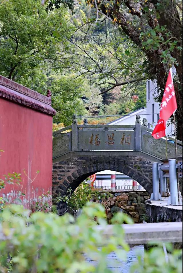
M 49 90 L 47 96 L 44 96 L 1 75 L 0 97 L 49 115 L 56 114 L 56 111 L 51 107 L 51 93 Z

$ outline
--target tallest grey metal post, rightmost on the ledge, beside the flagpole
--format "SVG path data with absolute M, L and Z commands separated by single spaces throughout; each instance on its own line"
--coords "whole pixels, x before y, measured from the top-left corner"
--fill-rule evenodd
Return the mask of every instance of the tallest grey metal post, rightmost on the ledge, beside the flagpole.
M 178 205 L 178 188 L 176 177 L 176 159 L 168 159 L 169 161 L 169 179 L 170 179 L 170 198 L 168 205 Z

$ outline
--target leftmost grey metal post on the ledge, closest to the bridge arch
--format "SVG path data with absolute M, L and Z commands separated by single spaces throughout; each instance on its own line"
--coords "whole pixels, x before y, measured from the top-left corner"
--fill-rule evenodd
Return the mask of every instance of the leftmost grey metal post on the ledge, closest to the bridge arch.
M 152 195 L 150 200 L 162 200 L 159 192 L 159 176 L 158 176 L 158 163 L 152 163 Z

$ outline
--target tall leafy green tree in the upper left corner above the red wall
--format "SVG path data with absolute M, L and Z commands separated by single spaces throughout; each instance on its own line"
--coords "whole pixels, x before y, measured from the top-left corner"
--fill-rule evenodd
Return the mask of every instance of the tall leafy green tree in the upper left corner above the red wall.
M 1 74 L 11 80 L 27 78 L 36 67 L 40 69 L 40 62 L 46 68 L 50 57 L 57 59 L 57 47 L 62 40 L 53 33 L 58 28 L 69 35 L 71 26 L 64 20 L 66 14 L 63 6 L 47 13 L 37 0 L 1 1 Z

